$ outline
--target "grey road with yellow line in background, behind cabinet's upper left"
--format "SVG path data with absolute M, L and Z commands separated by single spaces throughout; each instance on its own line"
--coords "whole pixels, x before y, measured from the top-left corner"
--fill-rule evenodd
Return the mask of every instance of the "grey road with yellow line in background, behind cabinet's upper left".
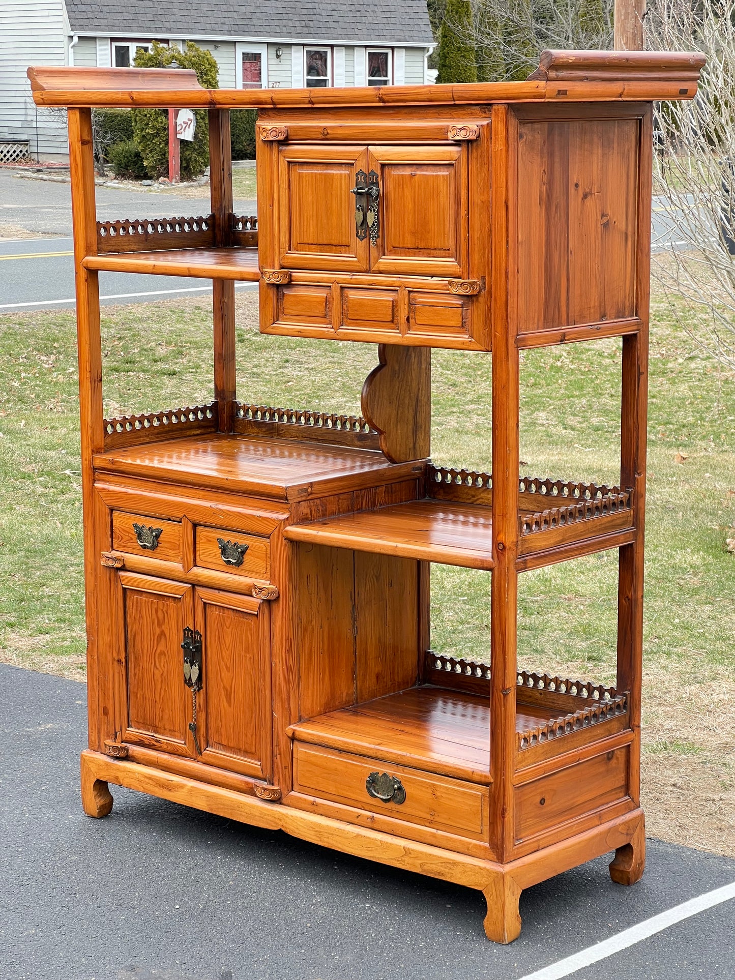
M 97 218 L 173 218 L 209 214 L 209 187 L 196 197 L 172 191 L 128 191 L 97 187 Z M 255 201 L 237 201 L 243 214 L 254 214 Z M 32 180 L 0 171 L 0 226 L 11 224 L 48 238 L 0 239 L 0 313 L 53 308 L 73 309 L 74 279 L 72 203 L 70 185 Z M 51 237 L 56 236 L 56 237 Z M 256 283 L 240 282 L 235 289 L 256 289 Z M 137 275 L 100 272 L 102 302 L 143 303 L 212 292 L 208 279 L 179 275 Z

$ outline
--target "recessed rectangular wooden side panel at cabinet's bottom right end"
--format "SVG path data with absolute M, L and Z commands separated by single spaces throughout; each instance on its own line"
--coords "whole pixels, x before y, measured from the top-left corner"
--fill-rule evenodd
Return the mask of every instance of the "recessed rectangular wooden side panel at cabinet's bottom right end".
M 515 838 L 524 840 L 628 795 L 628 746 L 569 765 L 515 790 Z

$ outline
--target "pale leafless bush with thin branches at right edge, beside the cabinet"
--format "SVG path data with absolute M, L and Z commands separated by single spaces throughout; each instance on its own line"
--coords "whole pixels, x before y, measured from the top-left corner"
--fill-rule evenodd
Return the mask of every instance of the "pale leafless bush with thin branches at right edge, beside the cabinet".
M 649 49 L 707 55 L 697 97 L 657 113 L 654 271 L 695 340 L 735 370 L 735 0 L 649 0 L 644 25 Z

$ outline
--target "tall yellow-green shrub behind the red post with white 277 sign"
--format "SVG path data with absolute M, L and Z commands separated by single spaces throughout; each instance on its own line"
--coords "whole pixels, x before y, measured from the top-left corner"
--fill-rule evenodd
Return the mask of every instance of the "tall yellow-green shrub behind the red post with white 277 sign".
M 193 69 L 204 88 L 218 88 L 218 64 L 209 51 L 191 41 L 186 50 L 168 48 L 158 41 L 151 51 L 138 48 L 136 68 Z M 146 171 L 154 178 L 169 171 L 169 114 L 165 109 L 133 109 L 132 126 L 135 142 Z M 210 162 L 209 125 L 205 109 L 195 109 L 196 129 L 192 142 L 181 140 L 181 178 L 190 180 L 204 173 Z

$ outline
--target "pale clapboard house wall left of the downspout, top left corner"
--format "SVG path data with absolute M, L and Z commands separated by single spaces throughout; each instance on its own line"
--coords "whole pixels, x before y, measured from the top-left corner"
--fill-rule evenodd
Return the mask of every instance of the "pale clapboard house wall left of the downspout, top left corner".
M 36 114 L 25 76 L 29 65 L 67 64 L 68 30 L 63 0 L 3 2 L 0 138 L 27 140 L 34 155 L 68 152 L 66 114 L 49 109 Z

